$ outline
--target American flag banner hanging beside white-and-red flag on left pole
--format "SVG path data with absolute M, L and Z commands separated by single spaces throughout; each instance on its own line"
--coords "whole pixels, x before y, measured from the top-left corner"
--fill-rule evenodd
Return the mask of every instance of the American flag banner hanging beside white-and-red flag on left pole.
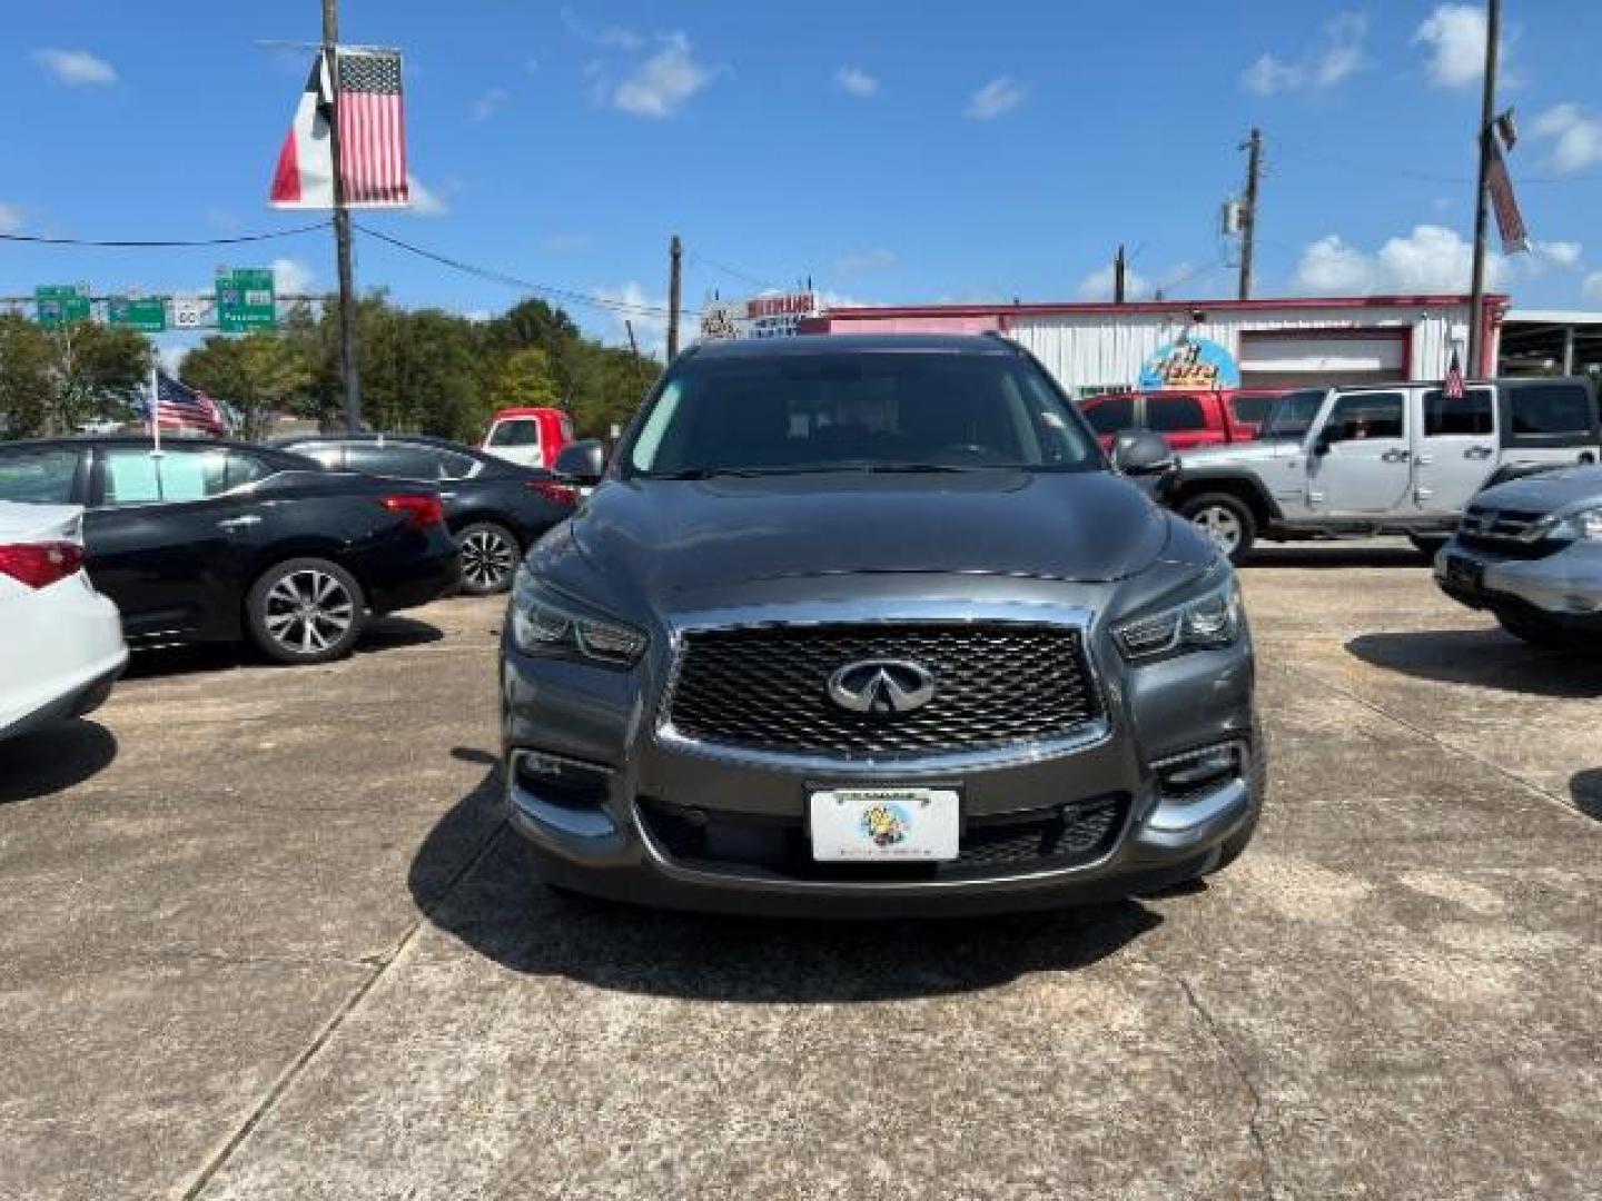
M 400 54 L 341 50 L 336 94 L 340 183 L 348 205 L 405 205 Z

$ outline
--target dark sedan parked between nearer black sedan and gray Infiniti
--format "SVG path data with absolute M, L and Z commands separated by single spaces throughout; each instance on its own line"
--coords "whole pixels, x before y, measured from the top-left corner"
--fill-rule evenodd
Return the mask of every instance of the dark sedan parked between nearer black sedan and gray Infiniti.
M 461 589 L 473 596 L 505 592 L 524 551 L 577 503 L 548 471 L 426 434 L 295 437 L 274 445 L 336 471 L 439 485 L 445 524 L 461 544 Z

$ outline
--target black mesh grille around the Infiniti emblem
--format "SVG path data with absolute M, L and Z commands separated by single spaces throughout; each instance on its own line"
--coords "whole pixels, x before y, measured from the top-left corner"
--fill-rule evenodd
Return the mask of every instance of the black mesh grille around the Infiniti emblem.
M 743 626 L 684 636 L 668 708 L 692 741 L 836 759 L 910 759 L 1073 735 L 1101 716 L 1080 631 L 1025 623 Z M 899 714 L 843 709 L 828 681 L 862 660 L 936 679 Z

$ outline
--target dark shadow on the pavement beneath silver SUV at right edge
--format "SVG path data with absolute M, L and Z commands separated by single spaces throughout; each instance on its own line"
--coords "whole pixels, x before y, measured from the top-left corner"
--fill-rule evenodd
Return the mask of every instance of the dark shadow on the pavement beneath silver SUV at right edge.
M 1371 666 L 1437 684 L 1573 700 L 1602 697 L 1602 661 L 1528 647 L 1496 629 L 1360 634 L 1346 650 Z

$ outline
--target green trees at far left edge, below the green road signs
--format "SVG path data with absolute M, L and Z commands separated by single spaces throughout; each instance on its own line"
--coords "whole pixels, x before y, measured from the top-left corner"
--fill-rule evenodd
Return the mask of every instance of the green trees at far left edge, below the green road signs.
M 127 420 L 155 351 L 135 330 L 78 322 L 45 330 L 0 315 L 0 436 L 70 434 L 95 418 Z

